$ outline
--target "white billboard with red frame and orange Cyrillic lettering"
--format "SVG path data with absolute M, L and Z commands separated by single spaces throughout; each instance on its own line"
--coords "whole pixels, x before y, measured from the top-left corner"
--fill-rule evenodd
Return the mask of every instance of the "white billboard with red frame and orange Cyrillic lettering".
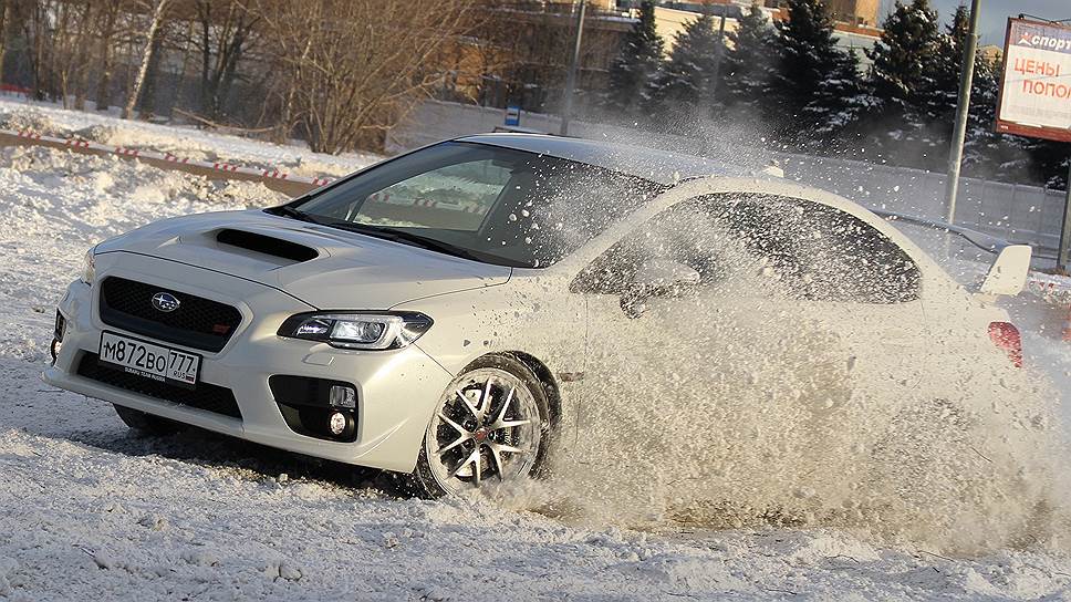
M 1071 27 L 1008 19 L 997 132 L 1071 142 Z

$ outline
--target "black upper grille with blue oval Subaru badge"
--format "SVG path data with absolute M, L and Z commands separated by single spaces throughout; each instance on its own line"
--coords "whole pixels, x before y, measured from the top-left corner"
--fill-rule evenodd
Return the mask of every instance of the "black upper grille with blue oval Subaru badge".
M 166 292 L 179 300 L 175 311 L 153 307 L 153 295 Z M 241 313 L 226 303 L 125 278 L 101 282 L 101 320 L 159 341 L 218 352 L 241 323 Z

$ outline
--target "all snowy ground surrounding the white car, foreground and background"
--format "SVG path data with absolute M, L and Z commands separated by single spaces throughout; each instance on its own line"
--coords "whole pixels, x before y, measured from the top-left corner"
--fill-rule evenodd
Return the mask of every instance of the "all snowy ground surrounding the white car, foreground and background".
M 329 175 L 371 160 L 35 111 L 0 102 L 9 122 L 176 154 Z M 279 200 L 259 184 L 0 149 L 0 599 L 1071 600 L 1059 537 L 965 558 L 830 529 L 636 531 L 406 499 L 382 476 L 210 434 L 138 437 L 108 405 L 40 382 L 55 300 L 86 248 L 166 216 Z M 1039 303 L 1012 308 L 1032 329 L 1028 362 L 1068 396 L 1071 345 Z

